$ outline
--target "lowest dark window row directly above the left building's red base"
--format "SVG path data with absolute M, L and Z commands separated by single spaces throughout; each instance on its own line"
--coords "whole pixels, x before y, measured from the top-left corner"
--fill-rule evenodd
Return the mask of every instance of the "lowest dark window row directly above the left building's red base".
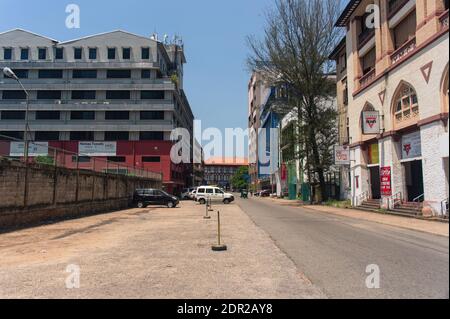
M 94 132 L 70 132 L 71 141 L 95 141 Z M 0 140 L 19 139 L 23 140 L 22 131 L 0 132 Z M 59 141 L 60 133 L 57 131 L 39 131 L 34 133 L 35 141 Z M 130 132 L 105 132 L 105 141 L 129 141 Z M 139 132 L 140 141 L 164 141 L 164 132 Z

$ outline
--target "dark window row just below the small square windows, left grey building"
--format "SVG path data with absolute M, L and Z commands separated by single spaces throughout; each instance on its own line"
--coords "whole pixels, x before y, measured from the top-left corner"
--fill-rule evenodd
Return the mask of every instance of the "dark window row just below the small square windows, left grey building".
M 14 69 L 13 72 L 17 75 L 19 79 L 28 79 L 29 70 L 26 69 Z M 72 72 L 73 79 L 96 79 L 98 71 L 95 69 L 76 69 Z M 143 69 L 141 70 L 142 79 L 151 78 L 151 70 Z M 39 79 L 62 79 L 63 70 L 60 69 L 50 69 L 50 70 L 39 70 Z M 106 71 L 107 79 L 131 79 L 131 70 L 129 69 L 114 69 Z

